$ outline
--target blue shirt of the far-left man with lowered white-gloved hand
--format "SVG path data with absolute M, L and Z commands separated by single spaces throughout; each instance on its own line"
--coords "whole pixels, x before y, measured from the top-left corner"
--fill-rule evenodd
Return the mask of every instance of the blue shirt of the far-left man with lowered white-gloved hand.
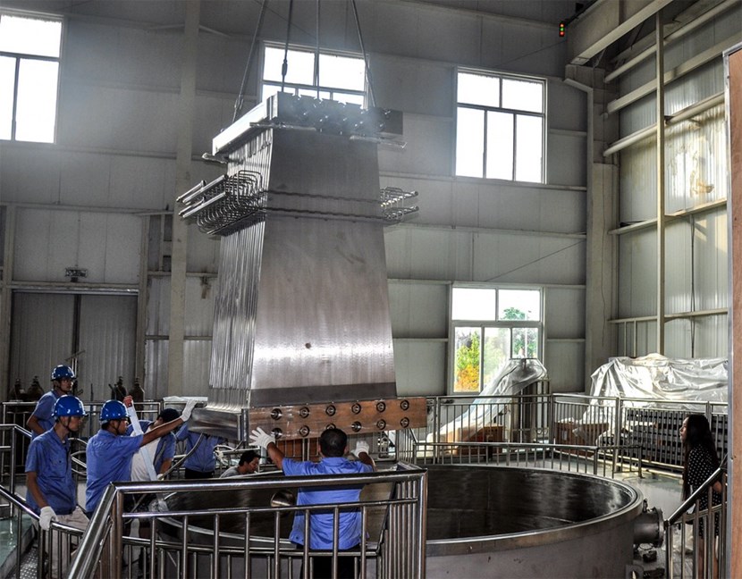
M 26 472 L 36 473 L 38 488 L 57 515 L 72 514 L 77 507 L 77 485 L 72 478 L 69 439 L 61 441 L 54 430 L 39 434 L 30 443 Z M 37 515 L 41 512 L 30 491 L 26 502 Z

